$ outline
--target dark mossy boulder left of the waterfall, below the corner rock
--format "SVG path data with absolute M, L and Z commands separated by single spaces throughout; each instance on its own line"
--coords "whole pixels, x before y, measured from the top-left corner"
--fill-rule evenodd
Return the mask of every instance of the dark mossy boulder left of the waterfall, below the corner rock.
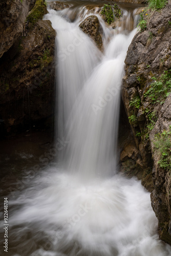
M 47 9 L 43 1 L 41 4 L 42 15 Z M 37 8 L 33 10 L 39 13 Z M 49 20 L 36 15 L 31 24 L 29 17 L 25 31 L 0 59 L 0 126 L 4 133 L 36 129 L 53 113 L 56 33 Z

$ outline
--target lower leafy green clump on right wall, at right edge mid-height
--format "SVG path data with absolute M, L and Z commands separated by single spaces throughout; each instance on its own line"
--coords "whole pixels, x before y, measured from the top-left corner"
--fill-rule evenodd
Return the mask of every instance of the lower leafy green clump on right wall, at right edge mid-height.
M 166 170 L 171 169 L 171 125 L 169 130 L 155 136 L 154 146 L 159 157 L 158 165 Z

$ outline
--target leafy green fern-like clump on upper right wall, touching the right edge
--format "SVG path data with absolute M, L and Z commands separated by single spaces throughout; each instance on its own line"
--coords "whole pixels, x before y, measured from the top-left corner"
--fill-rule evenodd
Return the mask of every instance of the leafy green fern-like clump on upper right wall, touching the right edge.
M 171 92 L 171 70 L 164 71 L 160 77 L 152 77 L 152 79 L 154 82 L 151 83 L 144 97 L 148 97 L 152 104 L 158 102 L 163 104 Z

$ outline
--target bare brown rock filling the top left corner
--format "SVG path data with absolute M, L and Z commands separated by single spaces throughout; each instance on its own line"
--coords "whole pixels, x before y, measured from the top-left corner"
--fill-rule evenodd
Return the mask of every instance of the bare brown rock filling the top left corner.
M 25 19 L 36 0 L 2 0 L 0 3 L 0 58 L 23 32 Z

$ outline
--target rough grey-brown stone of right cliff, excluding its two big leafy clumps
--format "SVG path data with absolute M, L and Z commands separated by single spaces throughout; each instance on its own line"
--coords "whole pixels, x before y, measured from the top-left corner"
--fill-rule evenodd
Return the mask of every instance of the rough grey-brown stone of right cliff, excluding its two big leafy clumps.
M 122 98 L 141 163 L 144 168 L 149 166 L 150 175 L 153 175 L 154 190 L 151 199 L 159 220 L 160 238 L 171 245 L 168 174 L 164 168 L 159 167 L 159 159 L 153 151 L 155 135 L 168 130 L 171 124 L 171 97 L 168 96 L 164 104 L 160 100 L 152 104 L 144 96 L 154 81 L 152 77 L 160 76 L 171 68 L 171 1 L 168 1 L 161 12 L 148 10 L 146 16 L 149 16 L 146 30 L 135 35 L 127 51 Z

